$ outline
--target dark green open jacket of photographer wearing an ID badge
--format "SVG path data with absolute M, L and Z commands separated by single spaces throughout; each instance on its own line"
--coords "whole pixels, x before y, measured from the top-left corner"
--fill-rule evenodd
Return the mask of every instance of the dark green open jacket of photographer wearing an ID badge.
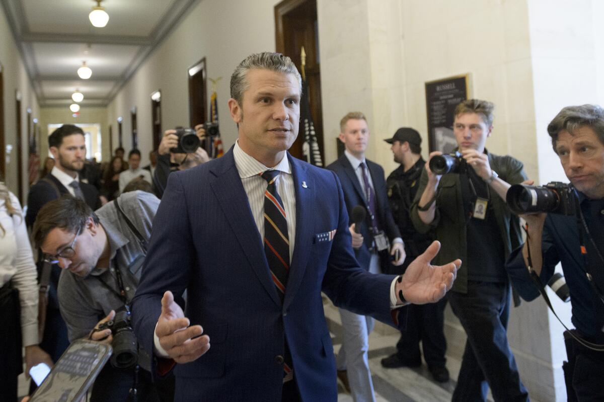
M 489 157 L 489 165 L 496 171 L 500 179 L 510 183 L 518 184 L 527 179 L 522 162 L 512 156 L 493 155 L 485 150 Z M 424 170 L 420 178 L 419 188 L 413 205 L 411 205 L 411 221 L 417 231 L 426 233 L 435 229 L 436 238 L 441 243 L 439 254 L 434 258 L 434 264 L 443 265 L 457 258 L 461 259 L 461 268 L 457 272 L 457 279 L 453 284 L 455 292 L 467 293 L 467 267 L 463 261 L 467 260 L 466 244 L 466 217 L 464 217 L 461 185 L 458 173 L 443 174 L 440 178 L 439 187 L 436 192 L 436 212 L 431 225 L 426 225 L 419 218 L 418 203 L 428 183 L 428 173 Z M 507 207 L 506 200 L 491 191 L 490 202 L 495 211 L 495 217 L 501 231 L 501 238 L 505 246 L 506 258 L 512 250 L 522 244 L 522 234 L 518 217 Z M 483 252 L 483 250 L 472 250 Z M 501 267 L 506 261 L 501 261 Z

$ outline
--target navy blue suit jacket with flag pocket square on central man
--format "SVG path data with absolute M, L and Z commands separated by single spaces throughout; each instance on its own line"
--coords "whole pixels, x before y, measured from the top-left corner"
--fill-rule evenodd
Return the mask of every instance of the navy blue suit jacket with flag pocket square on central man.
M 283 305 L 232 148 L 222 158 L 169 176 L 133 301 L 133 321 L 138 339 L 152 350 L 163 293 L 171 290 L 179 297 L 187 290 L 185 315 L 192 325 L 202 325 L 211 347 L 194 362 L 176 365 L 176 401 L 281 401 L 283 366 L 277 361 L 286 338 L 303 400 L 336 401 L 321 291 L 339 307 L 393 324 L 394 276 L 371 275 L 359 267 L 338 178 L 288 158 L 296 235 Z M 332 240 L 317 236 L 333 229 Z

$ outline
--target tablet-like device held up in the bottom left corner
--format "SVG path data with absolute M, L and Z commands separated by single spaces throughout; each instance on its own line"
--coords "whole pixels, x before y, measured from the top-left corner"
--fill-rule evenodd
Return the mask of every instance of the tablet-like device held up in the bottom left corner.
M 105 343 L 83 339 L 71 343 L 30 402 L 79 402 L 111 353 L 111 346 Z

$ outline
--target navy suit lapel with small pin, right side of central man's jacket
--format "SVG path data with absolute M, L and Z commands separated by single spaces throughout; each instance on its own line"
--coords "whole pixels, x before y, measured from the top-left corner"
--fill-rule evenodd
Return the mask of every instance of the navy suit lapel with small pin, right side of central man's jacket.
M 308 174 L 309 165 L 298 161 L 289 155 L 289 153 L 288 158 L 292 167 L 294 191 L 296 194 L 296 237 L 292 263 L 289 267 L 288 285 L 285 289 L 285 299 L 283 301 L 284 311 L 289 307 L 298 289 L 300 289 L 300 284 L 304 278 L 304 272 L 306 272 L 306 266 L 310 257 L 314 228 L 312 209 L 315 204 L 316 190 L 314 180 Z

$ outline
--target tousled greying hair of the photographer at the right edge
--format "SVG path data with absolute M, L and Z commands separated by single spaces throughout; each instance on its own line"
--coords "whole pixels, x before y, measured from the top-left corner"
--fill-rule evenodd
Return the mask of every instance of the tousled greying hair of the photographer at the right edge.
M 547 132 L 551 137 L 551 145 L 556 150 L 558 135 L 566 130 L 570 135 L 579 127 L 588 126 L 596 132 L 598 139 L 604 144 L 604 110 L 597 104 L 584 104 L 582 106 L 567 106 L 554 117 L 547 125 Z

